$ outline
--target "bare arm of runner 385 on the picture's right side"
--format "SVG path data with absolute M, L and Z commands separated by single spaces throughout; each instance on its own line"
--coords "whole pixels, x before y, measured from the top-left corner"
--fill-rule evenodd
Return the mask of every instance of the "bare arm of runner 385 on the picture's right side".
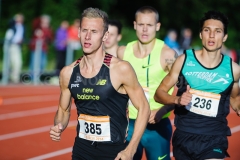
M 131 102 L 138 110 L 138 116 L 135 121 L 133 136 L 127 148 L 125 149 L 125 152 L 128 152 L 133 156 L 146 128 L 150 115 L 150 107 L 132 66 L 125 61 L 122 61 L 121 66 L 121 75 L 124 75 L 122 76 L 123 87 L 129 95 Z

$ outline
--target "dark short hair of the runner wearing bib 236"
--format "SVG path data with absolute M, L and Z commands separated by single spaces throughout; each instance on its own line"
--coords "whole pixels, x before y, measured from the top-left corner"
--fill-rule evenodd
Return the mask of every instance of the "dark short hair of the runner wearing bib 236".
M 199 26 L 200 26 L 199 32 L 202 32 L 202 27 L 203 27 L 204 22 L 209 19 L 221 21 L 223 23 L 223 27 L 224 27 L 224 34 L 227 34 L 228 23 L 229 23 L 228 17 L 226 15 L 224 15 L 223 13 L 221 13 L 219 11 L 214 11 L 214 10 L 204 13 L 204 16 L 199 21 Z

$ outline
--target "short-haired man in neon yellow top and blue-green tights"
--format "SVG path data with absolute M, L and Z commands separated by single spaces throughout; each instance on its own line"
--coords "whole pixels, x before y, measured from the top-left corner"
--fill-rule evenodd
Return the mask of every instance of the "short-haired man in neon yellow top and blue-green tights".
M 156 38 L 160 29 L 159 14 L 150 6 L 139 8 L 135 14 L 134 29 L 138 40 L 121 46 L 118 57 L 131 63 L 138 81 L 145 91 L 151 109 L 148 125 L 141 138 L 134 160 L 142 158 L 143 149 L 149 160 L 170 160 L 170 140 L 172 125 L 168 118 L 171 107 L 163 107 L 154 101 L 154 93 L 159 83 L 171 69 L 177 53 L 164 42 Z M 169 92 L 172 93 L 172 90 Z M 130 141 L 138 111 L 130 102 L 129 105 L 129 134 Z

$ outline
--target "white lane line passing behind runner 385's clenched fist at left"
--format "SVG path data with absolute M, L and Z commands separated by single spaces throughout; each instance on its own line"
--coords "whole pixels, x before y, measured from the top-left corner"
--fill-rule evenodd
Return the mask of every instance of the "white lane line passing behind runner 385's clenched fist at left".
M 76 125 L 77 125 L 77 121 L 70 121 L 68 124 L 68 127 L 73 127 Z M 19 131 L 19 132 L 14 132 L 14 133 L 9 133 L 9 134 L 3 134 L 3 135 L 0 135 L 0 141 L 17 138 L 17 137 L 22 137 L 22 136 L 27 136 L 27 135 L 32 135 L 32 134 L 37 134 L 37 133 L 42 133 L 42 132 L 47 132 L 50 130 L 51 127 L 52 127 L 52 125 L 29 129 L 29 130 L 24 130 L 24 131 Z

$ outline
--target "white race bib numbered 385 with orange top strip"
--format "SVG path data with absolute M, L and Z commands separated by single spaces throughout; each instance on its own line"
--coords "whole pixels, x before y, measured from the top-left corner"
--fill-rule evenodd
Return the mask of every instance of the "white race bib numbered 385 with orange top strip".
M 111 141 L 110 117 L 80 114 L 79 137 L 90 141 Z

